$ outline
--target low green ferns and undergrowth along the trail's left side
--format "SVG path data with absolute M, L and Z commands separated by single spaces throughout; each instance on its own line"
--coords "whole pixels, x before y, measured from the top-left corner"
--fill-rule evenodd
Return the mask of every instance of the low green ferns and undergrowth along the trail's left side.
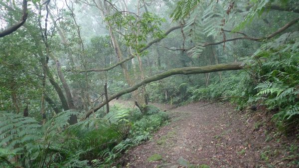
M 40 125 L 30 117 L 0 112 L 0 167 L 111 168 L 168 120 L 161 111 L 142 114 L 114 106 L 104 117 L 97 114 L 70 126 L 74 114 L 65 111 Z

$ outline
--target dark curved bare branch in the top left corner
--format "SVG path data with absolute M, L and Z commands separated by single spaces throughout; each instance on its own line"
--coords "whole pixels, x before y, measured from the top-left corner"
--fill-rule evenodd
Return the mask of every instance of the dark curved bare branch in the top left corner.
M 27 0 L 23 0 L 22 3 L 22 16 L 20 18 L 20 20 L 18 22 L 16 22 L 15 24 L 13 24 L 11 27 L 6 28 L 3 31 L 0 31 L 0 37 L 4 37 L 5 35 L 8 35 L 14 31 L 16 31 L 18 28 L 20 28 L 20 26 L 22 26 L 28 16 L 28 11 L 27 11 Z

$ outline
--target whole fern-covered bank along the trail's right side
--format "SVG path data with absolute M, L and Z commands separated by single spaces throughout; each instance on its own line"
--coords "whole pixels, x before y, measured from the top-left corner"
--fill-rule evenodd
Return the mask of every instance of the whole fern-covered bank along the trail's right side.
M 229 100 L 238 110 L 266 107 L 283 132 L 299 128 L 299 52 L 260 50 L 246 61 L 250 66 L 226 73 L 207 87 L 189 87 L 189 101 Z

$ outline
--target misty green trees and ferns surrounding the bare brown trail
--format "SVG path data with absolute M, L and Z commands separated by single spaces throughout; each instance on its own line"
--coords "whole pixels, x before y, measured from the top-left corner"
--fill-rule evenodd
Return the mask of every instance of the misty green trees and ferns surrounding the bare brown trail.
M 4 0 L 0 17 L 0 167 L 120 167 L 168 122 L 148 102 L 229 101 L 299 135 L 298 0 Z

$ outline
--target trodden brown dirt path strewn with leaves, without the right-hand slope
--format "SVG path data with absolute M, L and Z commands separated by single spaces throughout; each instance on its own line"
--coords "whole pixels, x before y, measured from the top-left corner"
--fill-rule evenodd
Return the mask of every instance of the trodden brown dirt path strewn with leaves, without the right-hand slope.
M 127 168 L 184 168 L 177 163 L 179 158 L 211 168 L 255 168 L 263 164 L 263 132 L 254 131 L 251 121 L 229 104 L 201 107 L 205 104 L 170 110 L 172 122 L 152 140 L 128 152 Z M 154 154 L 161 155 L 162 160 L 149 161 Z

